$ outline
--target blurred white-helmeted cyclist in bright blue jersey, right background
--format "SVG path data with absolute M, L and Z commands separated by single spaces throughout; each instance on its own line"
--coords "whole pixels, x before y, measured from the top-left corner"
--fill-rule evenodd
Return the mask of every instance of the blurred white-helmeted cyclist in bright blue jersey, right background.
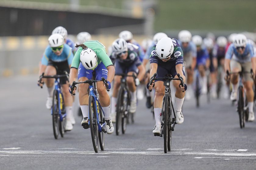
M 209 54 L 205 46 L 203 46 L 203 39 L 201 36 L 195 35 L 192 37 L 192 41 L 197 47 L 197 69 L 200 73 L 201 92 L 207 93 L 207 77 L 205 76 L 205 70 L 209 68 Z

